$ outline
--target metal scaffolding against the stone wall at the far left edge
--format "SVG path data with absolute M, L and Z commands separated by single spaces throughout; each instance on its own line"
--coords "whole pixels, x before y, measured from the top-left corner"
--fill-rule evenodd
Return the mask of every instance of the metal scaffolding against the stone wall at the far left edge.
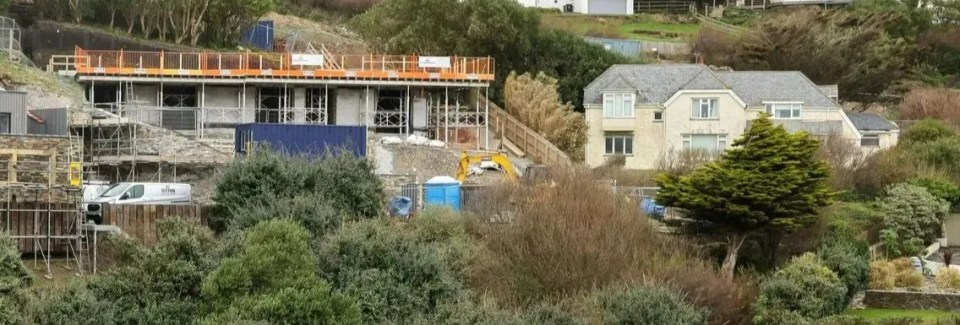
M 0 230 L 22 251 L 32 253 L 34 266 L 42 263 L 48 278 L 55 254 L 63 254 L 78 275 L 88 264 L 77 140 L 69 136 L 59 148 L 43 150 L 0 148 L 0 166 L 5 169 L 0 173 Z

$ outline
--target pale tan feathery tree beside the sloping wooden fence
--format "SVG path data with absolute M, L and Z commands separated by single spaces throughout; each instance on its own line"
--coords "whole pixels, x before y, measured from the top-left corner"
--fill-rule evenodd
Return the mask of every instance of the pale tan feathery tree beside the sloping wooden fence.
M 510 115 L 545 136 L 574 159 L 583 159 L 587 124 L 582 114 L 573 111 L 573 105 L 560 101 L 557 79 L 542 72 L 536 76 L 511 73 L 503 92 Z

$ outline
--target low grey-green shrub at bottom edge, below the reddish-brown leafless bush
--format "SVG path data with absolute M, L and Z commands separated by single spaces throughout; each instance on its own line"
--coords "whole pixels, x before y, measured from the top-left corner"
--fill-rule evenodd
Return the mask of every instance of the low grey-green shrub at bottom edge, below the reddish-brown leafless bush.
M 659 287 L 614 285 L 593 294 L 604 324 L 707 324 L 708 311 Z

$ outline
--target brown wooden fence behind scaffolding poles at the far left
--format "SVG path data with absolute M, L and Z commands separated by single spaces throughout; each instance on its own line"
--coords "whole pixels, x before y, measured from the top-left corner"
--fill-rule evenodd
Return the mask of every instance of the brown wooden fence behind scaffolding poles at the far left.
M 76 204 L 0 202 L 0 232 L 24 253 L 65 251 L 67 239 L 76 236 L 79 215 Z

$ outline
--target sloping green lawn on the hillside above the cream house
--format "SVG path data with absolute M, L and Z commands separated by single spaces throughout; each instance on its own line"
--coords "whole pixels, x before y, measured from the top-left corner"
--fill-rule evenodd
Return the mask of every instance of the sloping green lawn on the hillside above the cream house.
M 560 29 L 583 36 L 683 42 L 694 36 L 700 25 L 688 22 L 669 22 L 652 16 L 597 17 L 573 14 L 543 15 L 545 28 Z

